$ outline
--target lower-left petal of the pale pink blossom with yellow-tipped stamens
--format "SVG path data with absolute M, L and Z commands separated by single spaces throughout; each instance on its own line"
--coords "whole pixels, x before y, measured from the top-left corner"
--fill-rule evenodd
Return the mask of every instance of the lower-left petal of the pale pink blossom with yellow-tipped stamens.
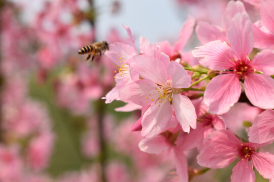
M 172 117 L 172 107 L 168 101 L 158 104 L 152 104 L 143 115 L 142 136 L 152 138 L 159 134 L 167 126 Z

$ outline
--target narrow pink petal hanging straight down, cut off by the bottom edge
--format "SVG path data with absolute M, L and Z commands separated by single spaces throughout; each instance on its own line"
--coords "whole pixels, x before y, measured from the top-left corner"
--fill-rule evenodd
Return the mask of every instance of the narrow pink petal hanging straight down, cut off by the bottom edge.
M 174 150 L 176 172 L 179 176 L 179 182 L 188 181 L 188 164 L 184 152 L 179 150 Z

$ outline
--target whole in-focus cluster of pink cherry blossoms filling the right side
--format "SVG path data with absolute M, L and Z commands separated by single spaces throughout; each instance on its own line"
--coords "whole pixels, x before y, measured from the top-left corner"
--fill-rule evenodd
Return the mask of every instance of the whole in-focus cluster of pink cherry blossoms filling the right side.
M 240 1 L 228 3 L 222 27 L 198 22 L 196 34 L 202 45 L 192 51 L 193 57 L 182 51 L 195 27 L 191 16 L 173 46 L 167 41 L 151 44 L 141 37 L 138 52 L 126 26 L 131 44 L 110 44 L 106 56 L 119 69 L 106 103 L 127 103 L 118 111 L 142 109 L 132 127 L 145 137 L 140 150 L 172 156 L 179 181 L 189 179 L 185 151 L 193 148 L 199 151 L 197 163 L 202 167 L 224 168 L 237 160 L 233 182 L 255 181 L 253 166 L 274 180 L 274 155 L 259 152 L 274 141 L 274 2 L 259 3 L 261 20 L 254 24 Z M 244 111 L 246 105 L 233 110 L 239 101 L 254 106 L 253 113 L 258 114 L 245 129 L 243 138 L 248 135 L 248 141 L 233 129 L 238 115 L 250 114 Z

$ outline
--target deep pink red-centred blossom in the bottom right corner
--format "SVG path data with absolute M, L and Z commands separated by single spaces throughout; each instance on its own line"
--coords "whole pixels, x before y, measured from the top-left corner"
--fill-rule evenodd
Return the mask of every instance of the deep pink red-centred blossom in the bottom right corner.
M 265 145 L 265 144 L 264 144 Z M 198 164 L 213 169 L 228 166 L 238 159 L 232 170 L 231 181 L 255 181 L 254 166 L 259 173 L 271 180 L 274 179 L 274 155 L 257 152 L 258 145 L 240 141 L 231 130 L 217 130 L 209 134 L 204 146 L 197 156 Z M 251 161 L 252 165 L 249 164 Z

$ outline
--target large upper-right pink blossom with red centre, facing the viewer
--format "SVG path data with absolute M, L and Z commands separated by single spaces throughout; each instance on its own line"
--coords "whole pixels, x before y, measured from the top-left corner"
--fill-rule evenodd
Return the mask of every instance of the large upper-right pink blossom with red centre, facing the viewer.
M 216 40 L 197 47 L 194 57 L 202 57 L 199 61 L 212 70 L 220 70 L 204 92 L 204 103 L 209 112 L 226 113 L 241 95 L 241 80 L 244 82 L 245 94 L 249 101 L 262 109 L 274 108 L 274 53 L 264 50 L 252 61 L 248 55 L 253 48 L 252 23 L 246 13 L 236 14 L 227 32 L 228 42 Z M 257 74 L 261 71 L 263 74 Z

